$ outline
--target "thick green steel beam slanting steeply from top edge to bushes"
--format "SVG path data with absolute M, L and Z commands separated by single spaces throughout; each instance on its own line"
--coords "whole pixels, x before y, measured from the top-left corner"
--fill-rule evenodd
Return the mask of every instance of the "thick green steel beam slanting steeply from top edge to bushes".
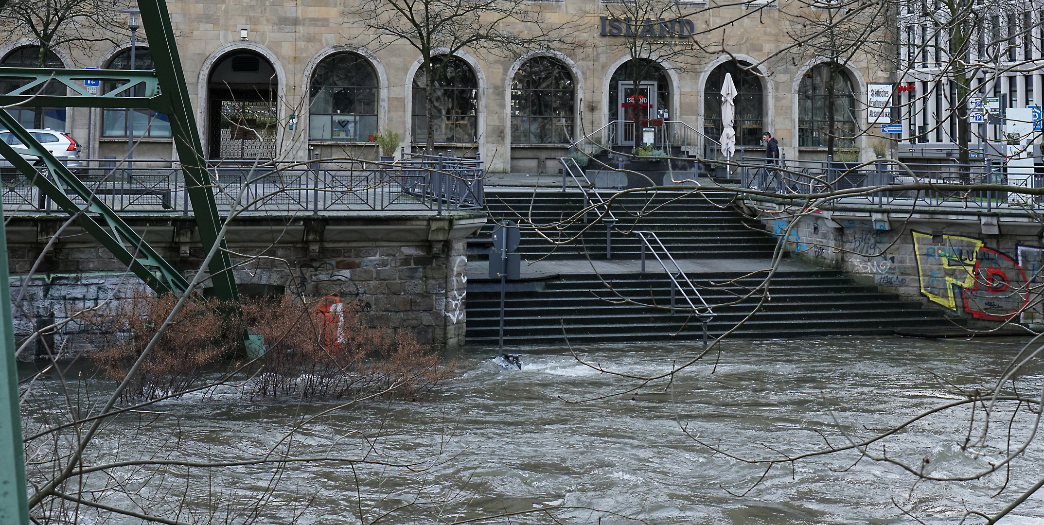
M 192 112 L 189 90 L 185 83 L 185 71 L 177 54 L 177 44 L 174 41 L 174 29 L 170 23 L 170 13 L 167 11 L 165 0 L 139 0 L 142 26 L 148 37 L 148 50 L 156 67 L 156 77 L 160 81 L 163 93 L 169 97 L 170 111 L 164 112 L 170 117 L 170 130 L 177 148 L 177 158 L 185 173 L 186 190 L 192 201 L 192 212 L 195 214 L 196 231 L 203 241 L 204 249 L 211 249 L 219 243 L 226 248 L 224 239 L 220 237 L 221 217 L 217 213 L 214 201 L 214 191 L 207 171 L 207 158 L 204 156 L 203 141 L 199 140 L 199 129 Z M 237 302 L 239 293 L 236 289 L 235 276 L 232 275 L 232 260 L 229 253 L 221 249 L 211 260 L 211 282 L 218 299 Z

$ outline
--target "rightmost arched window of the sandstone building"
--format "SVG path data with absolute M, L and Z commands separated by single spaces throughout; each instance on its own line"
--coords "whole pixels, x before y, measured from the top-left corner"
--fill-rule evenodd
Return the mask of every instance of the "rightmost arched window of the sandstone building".
M 798 90 L 798 145 L 855 145 L 855 94 L 852 80 L 834 64 L 818 64 L 805 73 Z

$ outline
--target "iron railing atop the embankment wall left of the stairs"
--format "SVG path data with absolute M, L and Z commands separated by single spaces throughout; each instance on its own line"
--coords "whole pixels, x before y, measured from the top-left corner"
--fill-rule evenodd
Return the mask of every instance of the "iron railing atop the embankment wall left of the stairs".
M 123 213 L 191 213 L 177 163 L 82 160 L 73 172 L 95 198 Z M 479 210 L 485 170 L 480 159 L 416 154 L 390 164 L 369 162 L 222 163 L 209 168 L 218 211 L 331 213 Z M 39 176 L 48 176 L 41 170 Z M 58 208 L 29 177 L 0 167 L 4 210 L 51 213 Z M 82 198 L 69 196 L 82 205 Z

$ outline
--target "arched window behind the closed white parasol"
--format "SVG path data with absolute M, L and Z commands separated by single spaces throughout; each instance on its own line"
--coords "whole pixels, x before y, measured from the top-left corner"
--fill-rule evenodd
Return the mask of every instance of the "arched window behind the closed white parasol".
M 757 146 L 763 127 L 761 119 L 764 114 L 764 95 L 761 79 L 743 66 L 746 65 L 730 61 L 714 68 L 707 76 L 707 83 L 704 85 L 704 133 L 714 140 L 721 137 L 721 85 L 725 82 L 725 74 L 730 73 L 737 92 L 733 99 L 736 104 L 736 120 L 733 123 L 736 143 Z

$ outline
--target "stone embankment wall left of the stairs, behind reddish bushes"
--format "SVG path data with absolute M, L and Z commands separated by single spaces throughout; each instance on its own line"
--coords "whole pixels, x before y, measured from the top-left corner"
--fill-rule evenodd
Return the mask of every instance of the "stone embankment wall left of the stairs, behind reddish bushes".
M 8 219 L 7 255 L 19 338 L 34 327 L 62 321 L 99 303 L 148 293 L 75 225 L 67 226 L 41 257 L 66 219 Z M 124 219 L 192 279 L 206 254 L 191 217 Z M 484 222 L 485 215 L 476 213 L 241 216 L 229 229 L 228 243 L 238 254 L 232 259 L 240 264 L 235 273 L 241 292 L 280 290 L 312 300 L 336 294 L 345 303 L 357 301 L 372 325 L 408 330 L 421 342 L 445 349 L 464 343 L 466 238 Z M 86 328 L 74 321 L 44 338 L 44 343 L 75 354 L 90 339 Z M 21 357 L 42 351 L 34 344 Z

